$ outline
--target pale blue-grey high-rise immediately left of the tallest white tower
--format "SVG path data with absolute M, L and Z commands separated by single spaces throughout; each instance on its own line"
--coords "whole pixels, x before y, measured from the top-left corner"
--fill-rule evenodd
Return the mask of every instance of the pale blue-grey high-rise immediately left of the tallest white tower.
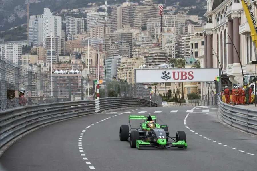
M 32 15 L 29 19 L 29 45 L 41 46 L 43 44 L 43 14 Z

